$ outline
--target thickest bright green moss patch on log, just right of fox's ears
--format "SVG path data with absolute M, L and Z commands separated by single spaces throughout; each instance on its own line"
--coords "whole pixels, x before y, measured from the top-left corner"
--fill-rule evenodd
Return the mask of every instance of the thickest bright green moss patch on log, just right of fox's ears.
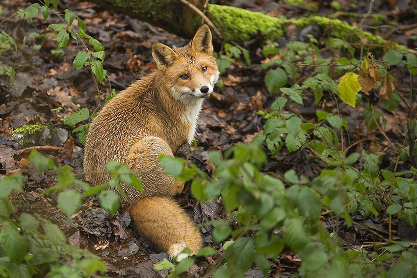
M 278 39 L 284 35 L 281 25 L 285 22 L 264 15 L 260 12 L 251 12 L 230 6 L 209 4 L 208 16 L 219 29 L 226 42 L 247 42 L 258 31 L 265 34 L 268 39 Z

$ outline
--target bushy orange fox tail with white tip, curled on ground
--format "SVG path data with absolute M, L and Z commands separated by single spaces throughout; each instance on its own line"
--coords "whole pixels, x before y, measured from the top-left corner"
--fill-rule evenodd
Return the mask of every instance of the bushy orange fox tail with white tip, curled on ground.
M 177 256 L 188 247 L 192 254 L 203 245 L 200 231 L 180 205 L 167 197 L 146 197 L 127 211 L 136 230 L 161 251 Z M 179 256 L 183 258 L 184 256 Z

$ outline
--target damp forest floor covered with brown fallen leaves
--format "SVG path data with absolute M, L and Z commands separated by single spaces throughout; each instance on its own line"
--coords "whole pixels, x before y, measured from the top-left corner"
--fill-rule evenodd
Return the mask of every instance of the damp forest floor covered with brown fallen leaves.
M 213 2 L 264 11 L 268 15 L 277 17 L 290 18 L 312 14 L 310 7 L 291 5 L 289 4 L 291 1 L 287 3 L 268 0 Z M 354 6 L 347 0 L 337 2 L 341 6 L 341 11 L 338 11 L 339 19 L 357 25 L 367 13 L 371 1 L 355 1 L 357 4 Z M 417 2 L 413 0 L 373 2 L 373 10 L 371 16 L 364 22 L 365 26 L 371 25 L 372 16 L 376 13 L 386 16 L 389 22 L 396 21 L 397 24 L 395 27 L 386 25 L 378 28 L 365 27 L 365 29 L 408 48 L 416 48 Z M 315 14 L 326 16 L 336 13 L 330 8 L 329 1 L 311 3 L 318 8 Z M 60 0 L 58 10 L 69 9 L 76 13 L 86 23 L 87 33 L 104 45 L 106 54 L 104 69 L 108 78 L 104 79 L 103 84 L 97 85 L 88 68 L 76 70 L 72 67 L 77 52 L 83 49 L 81 44 L 77 45 L 70 40 L 69 45 L 64 49 L 64 56 L 51 54 L 51 50 L 55 50 L 56 45 L 49 39 L 52 30 L 48 25 L 61 23 L 59 18 L 50 17 L 45 22 L 38 14 L 30 22 L 22 20 L 14 13 L 19 8 L 25 9 L 29 4 L 21 0 L 1 1 L 4 10 L 1 19 L 6 20 L 1 23 L 0 28 L 16 39 L 18 49 L 17 52 L 5 51 L 0 56 L 0 64 L 13 66 L 17 73 L 13 86 L 9 85 L 7 76 L 0 76 L 0 177 L 23 173 L 25 193 L 17 196 L 19 203 L 22 204 L 18 206 L 18 211 L 37 213 L 58 224 L 67 235 L 69 243 L 88 249 L 106 261 L 109 277 L 164 276 L 166 271 L 165 273 L 156 271 L 153 265 L 167 255 L 154 253 L 154 249 L 140 235 L 135 234 L 131 227 L 128 227 L 130 218 L 126 213 L 109 217 L 104 209 L 98 206 L 96 200 L 90 199 L 72 219 L 66 218 L 58 210 L 54 196 L 42 194 L 56 183 L 56 177 L 52 174 L 38 174 L 27 168 L 27 154 L 18 152 L 22 146 L 15 141 L 11 132 L 25 124 L 46 124 L 53 129 L 56 128 L 59 136 L 40 140 L 35 144 L 64 146 L 59 151 L 42 153 L 55 157 L 62 165 L 71 166 L 76 173 L 82 173 L 83 146 L 78 141 L 78 134 L 71 134 L 73 127 L 64 125 L 60 119 L 83 107 L 87 107 L 90 113 L 97 111 L 98 107 L 104 104 L 104 99 L 111 93 L 111 89 L 114 88 L 119 92 L 140 76 L 154 71 L 156 66 L 152 63 L 151 55 L 153 43 L 182 46 L 188 40 L 123 14 L 104 10 L 91 2 Z M 11 15 L 12 13 L 14 14 Z M 357 17 L 354 17 L 354 14 Z M 289 32 L 288 34 L 292 34 L 291 37 L 280 40 L 280 45 L 297 38 L 300 31 Z M 31 33 L 42 34 L 42 37 L 30 36 Z M 34 46 L 38 44 L 41 48 L 35 50 Z M 214 168 L 207 160 L 208 151 L 225 151 L 235 144 L 251 142 L 256 134 L 262 132 L 265 123 L 265 120 L 258 115 L 258 111 L 268 111 L 277 97 L 270 95 L 264 86 L 265 71 L 259 70 L 261 60 L 265 59 L 261 54 L 261 46 L 250 45 L 248 49 L 252 65 L 245 65 L 241 61 L 231 65 L 226 74 L 221 76 L 225 86 L 216 90 L 217 98 L 209 98 L 203 106 L 196 134 L 197 147 L 192 148 L 191 161 L 209 175 L 213 173 Z M 398 72 L 396 79 L 403 81 L 395 84 L 400 95 L 407 92 L 406 82 L 409 80 L 407 74 L 400 76 L 401 74 Z M 315 104 L 313 100 L 305 100 L 304 106 L 289 105 L 287 109 L 305 119 L 310 119 L 318 108 L 331 112 L 335 109 L 335 105 L 335 100 L 329 95 L 324 96 L 319 104 Z M 383 107 L 379 108 L 388 121 L 384 127 L 386 134 L 392 142 L 401 144 L 406 132 L 407 107 L 400 107 L 395 114 Z M 352 130 L 350 144 L 370 137 L 382 137 L 378 131 L 367 130 L 360 109 L 355 110 L 348 105 L 340 105 L 339 109 Z M 388 145 L 387 142 L 385 144 Z M 391 169 L 395 159 L 395 156 L 385 155 L 383 161 L 385 167 Z M 409 166 L 400 164 L 399 167 L 407 169 Z M 269 166 L 264 171 L 280 177 L 285 171 L 294 169 L 299 175 L 312 179 L 325 167 L 324 163 L 309 159 L 306 150 L 289 153 L 283 149 L 275 155 L 270 155 Z M 220 201 L 205 202 L 201 205 L 191 197 L 188 189 L 189 185 L 186 185 L 177 200 L 198 224 L 225 217 Z M 358 213 L 353 215 L 352 219 L 354 223 L 348 227 L 342 219 L 325 215 L 322 217 L 322 224 L 329 228 L 338 225 L 343 246 L 350 248 L 359 248 L 365 242 L 378 242 L 380 237 L 388 237 L 388 220 L 384 214 L 375 218 Z M 397 226 L 398 223 L 394 220 L 393 238 L 399 238 Z M 221 245 L 214 243 L 210 235 L 210 227 L 203 227 L 202 232 L 205 244 L 217 250 L 221 249 Z M 213 258 L 199 261 L 198 265 L 190 270 L 190 276 L 203 277 L 212 263 Z M 297 254 L 285 249 L 274 262 L 269 276 L 290 277 L 300 264 Z M 246 277 L 263 277 L 263 275 L 253 268 L 246 273 Z

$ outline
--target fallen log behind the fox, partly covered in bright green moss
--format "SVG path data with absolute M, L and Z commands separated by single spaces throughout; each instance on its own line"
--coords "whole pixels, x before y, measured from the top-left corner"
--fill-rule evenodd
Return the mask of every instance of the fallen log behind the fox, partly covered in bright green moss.
M 202 19 L 179 0 L 93 0 L 93 2 L 186 38 L 192 38 L 202 23 Z M 205 1 L 189 0 L 189 2 L 202 9 Z M 321 30 L 327 30 L 326 36 L 346 39 L 351 43 L 360 43 L 361 38 L 365 38 L 367 44 L 385 45 L 387 43 L 381 37 L 362 32 L 356 26 L 321 16 L 283 19 L 270 17 L 261 12 L 215 4 L 209 4 L 205 13 L 223 36 L 222 41 L 213 36 L 217 44 L 235 42 L 241 45 L 255 37 L 259 31 L 265 35 L 266 39 L 276 40 L 283 37 L 288 24 L 296 24 L 299 29 L 316 25 Z

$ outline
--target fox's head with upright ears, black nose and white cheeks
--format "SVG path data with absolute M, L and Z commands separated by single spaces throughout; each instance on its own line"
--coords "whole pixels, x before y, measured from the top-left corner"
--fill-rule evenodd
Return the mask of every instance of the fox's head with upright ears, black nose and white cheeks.
M 152 46 L 152 56 L 161 72 L 160 85 L 184 104 L 205 99 L 219 77 L 213 57 L 211 32 L 201 26 L 190 43 L 181 48 L 169 48 L 161 43 Z

